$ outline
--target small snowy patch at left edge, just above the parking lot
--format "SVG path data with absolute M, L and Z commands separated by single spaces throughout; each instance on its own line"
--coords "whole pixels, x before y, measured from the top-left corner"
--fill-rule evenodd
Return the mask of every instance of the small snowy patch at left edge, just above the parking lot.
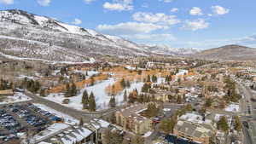
M 22 102 L 22 101 L 30 101 L 32 100 L 29 96 L 24 95 L 23 93 L 16 92 L 15 95 L 9 95 L 3 101 L 0 102 L 1 104 L 9 104 L 15 102 Z

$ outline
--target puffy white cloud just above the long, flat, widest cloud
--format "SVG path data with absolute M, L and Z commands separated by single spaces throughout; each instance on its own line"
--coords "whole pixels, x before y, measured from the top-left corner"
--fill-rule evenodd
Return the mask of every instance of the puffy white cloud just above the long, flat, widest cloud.
M 180 20 L 177 20 L 175 15 L 166 15 L 163 13 L 144 13 L 144 12 L 137 12 L 132 15 L 133 20 L 147 22 L 147 23 L 154 23 L 158 25 L 175 25 L 180 22 Z

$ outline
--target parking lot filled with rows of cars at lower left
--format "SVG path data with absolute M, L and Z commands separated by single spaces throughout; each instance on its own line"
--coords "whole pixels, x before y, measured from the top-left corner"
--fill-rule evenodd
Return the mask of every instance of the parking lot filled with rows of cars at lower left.
M 32 103 L 0 107 L 0 143 L 17 141 L 19 135 L 33 135 L 45 130 L 49 124 L 62 122 L 54 114 Z

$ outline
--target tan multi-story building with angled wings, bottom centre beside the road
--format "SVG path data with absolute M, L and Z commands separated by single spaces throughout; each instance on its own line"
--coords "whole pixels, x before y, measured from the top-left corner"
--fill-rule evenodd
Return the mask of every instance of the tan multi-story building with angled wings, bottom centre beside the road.
M 116 112 L 117 124 L 121 125 L 125 130 L 131 130 L 138 135 L 145 134 L 152 130 L 152 120 L 140 115 L 140 112 L 146 109 L 147 105 L 140 104 Z

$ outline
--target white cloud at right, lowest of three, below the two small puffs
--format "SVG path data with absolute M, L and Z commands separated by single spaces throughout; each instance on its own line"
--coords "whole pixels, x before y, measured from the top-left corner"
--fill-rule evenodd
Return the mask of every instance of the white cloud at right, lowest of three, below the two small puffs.
M 204 19 L 187 20 L 182 28 L 184 30 L 197 31 L 200 29 L 205 29 L 209 25 L 210 24 L 207 23 L 206 20 L 204 20 Z

